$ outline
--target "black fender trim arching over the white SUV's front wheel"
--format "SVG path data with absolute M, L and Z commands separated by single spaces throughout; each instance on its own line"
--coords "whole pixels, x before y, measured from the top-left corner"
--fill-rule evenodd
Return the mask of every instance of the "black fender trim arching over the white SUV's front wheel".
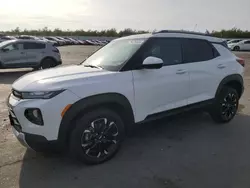
M 80 113 L 84 113 L 89 108 L 115 104 L 121 106 L 121 111 L 126 115 L 127 123 L 134 123 L 134 113 L 129 100 L 122 94 L 118 93 L 105 93 L 83 98 L 74 103 L 64 114 L 58 133 L 58 141 L 60 144 L 65 145 L 68 135 L 75 128 L 74 120 Z

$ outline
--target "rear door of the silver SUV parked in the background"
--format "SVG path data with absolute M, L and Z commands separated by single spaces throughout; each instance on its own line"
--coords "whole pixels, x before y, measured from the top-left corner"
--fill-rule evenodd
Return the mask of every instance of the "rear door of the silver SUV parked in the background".
M 40 63 L 45 54 L 45 43 L 25 42 L 23 44 L 27 56 L 27 62 L 30 66 L 36 66 Z

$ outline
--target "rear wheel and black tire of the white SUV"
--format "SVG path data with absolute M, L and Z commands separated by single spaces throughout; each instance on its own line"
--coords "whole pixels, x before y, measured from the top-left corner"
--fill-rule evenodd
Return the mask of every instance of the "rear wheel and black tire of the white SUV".
M 217 123 L 230 122 L 237 113 L 239 94 L 234 88 L 224 87 L 215 99 L 210 115 Z

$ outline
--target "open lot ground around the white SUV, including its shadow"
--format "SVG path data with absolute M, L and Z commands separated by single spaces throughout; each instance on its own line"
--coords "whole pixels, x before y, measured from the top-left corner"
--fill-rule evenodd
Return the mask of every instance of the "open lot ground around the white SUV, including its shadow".
M 97 47 L 61 47 L 64 64 L 83 60 Z M 138 125 L 111 161 L 86 166 L 60 156 L 27 151 L 10 131 L 5 105 L 22 70 L 0 71 L 0 188 L 44 187 L 250 187 L 250 53 L 245 93 L 237 117 L 216 125 L 204 113 L 178 115 Z

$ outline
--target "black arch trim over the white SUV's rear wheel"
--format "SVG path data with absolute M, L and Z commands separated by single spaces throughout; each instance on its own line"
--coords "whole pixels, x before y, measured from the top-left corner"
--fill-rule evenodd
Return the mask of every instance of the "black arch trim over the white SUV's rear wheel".
M 222 90 L 223 87 L 225 86 L 230 86 L 234 89 L 237 90 L 239 97 L 241 97 L 243 91 L 244 91 L 244 82 L 243 78 L 240 74 L 232 74 L 229 76 L 226 76 L 219 84 L 215 97 L 218 96 L 220 91 Z

